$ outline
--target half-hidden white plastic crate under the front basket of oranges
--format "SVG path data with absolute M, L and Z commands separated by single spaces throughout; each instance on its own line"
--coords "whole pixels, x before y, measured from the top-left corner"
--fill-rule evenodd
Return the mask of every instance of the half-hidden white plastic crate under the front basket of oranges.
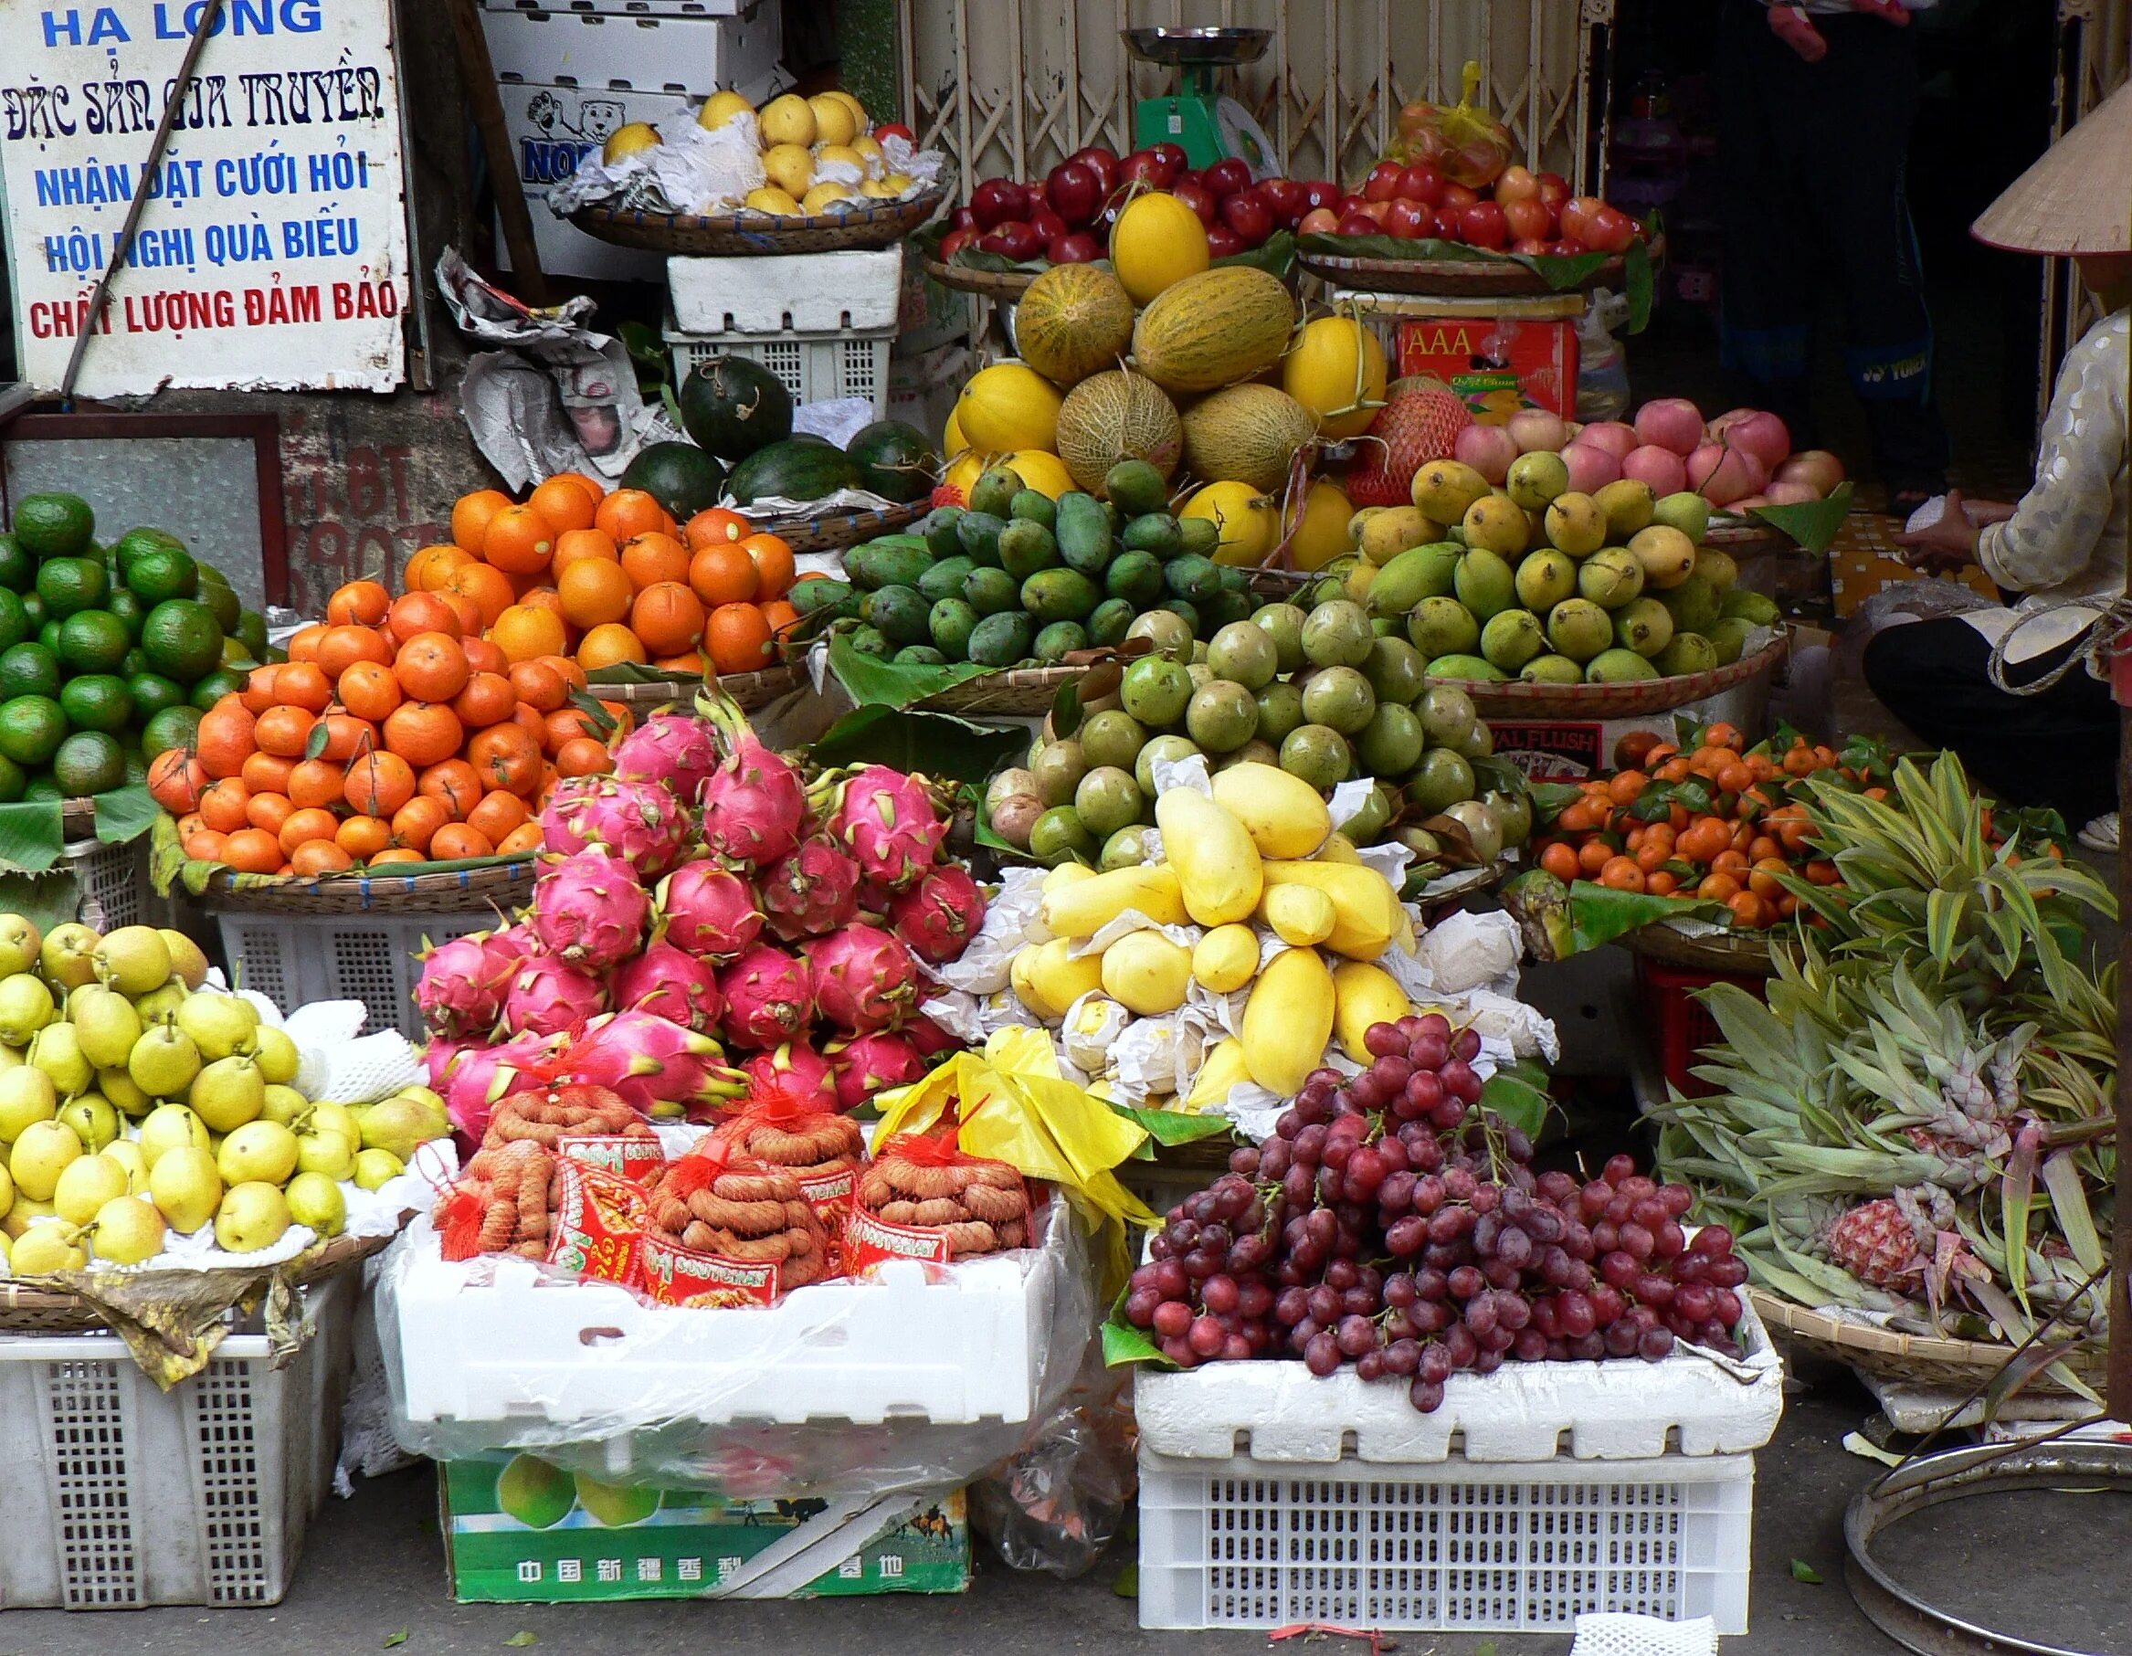
M 256 989 L 294 1010 L 313 1000 L 360 1000 L 367 1034 L 399 1029 L 422 1040 L 414 987 L 422 940 L 439 944 L 497 923 L 488 908 L 465 914 L 258 914 L 215 912 L 237 989 Z

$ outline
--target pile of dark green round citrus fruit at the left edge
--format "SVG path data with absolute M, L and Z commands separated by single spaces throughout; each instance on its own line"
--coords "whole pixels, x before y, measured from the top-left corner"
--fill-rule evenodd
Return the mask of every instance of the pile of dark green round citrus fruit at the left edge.
M 264 659 L 264 618 L 177 535 L 100 546 L 79 494 L 26 494 L 0 531 L 0 803 L 145 780 Z

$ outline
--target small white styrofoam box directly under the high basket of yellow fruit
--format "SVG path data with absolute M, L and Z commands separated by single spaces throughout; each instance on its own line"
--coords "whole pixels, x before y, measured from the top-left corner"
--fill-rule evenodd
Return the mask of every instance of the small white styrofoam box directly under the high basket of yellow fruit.
M 902 283 L 902 247 L 667 260 L 674 328 L 691 335 L 893 330 Z

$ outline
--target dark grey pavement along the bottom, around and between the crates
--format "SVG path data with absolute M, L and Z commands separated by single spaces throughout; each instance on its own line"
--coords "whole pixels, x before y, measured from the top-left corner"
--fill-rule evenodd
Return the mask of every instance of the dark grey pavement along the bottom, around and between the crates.
M 1842 1586 L 1842 1511 L 1872 1475 L 1844 1454 L 1866 1394 L 1838 1370 L 1812 1370 L 1791 1398 L 1776 1443 L 1763 1451 L 1755 1513 L 1753 1633 L 1727 1641 L 1757 1656 L 1874 1656 L 1895 1645 L 1857 1613 Z M 2104 1505 L 2111 1503 L 2111 1505 Z M 1889 1556 L 1929 1573 L 1940 1592 L 2010 1622 L 2006 1630 L 2079 1650 L 2132 1652 L 2132 1581 L 2123 1539 L 2132 1503 L 2109 1496 L 2008 1496 L 1940 1509 L 1891 1539 Z M 1793 1579 L 1804 1560 L 1823 1586 Z M 1130 1562 L 1121 1549 L 1117 1564 Z M 1151 1652 L 1243 1656 L 1260 1635 L 1141 1633 L 1134 1605 L 1111 1592 L 1104 1564 L 1079 1581 L 1015 1575 L 991 1562 L 959 1598 L 844 1598 L 785 1605 L 454 1605 L 437 1539 L 435 1483 L 426 1471 L 360 1488 L 330 1503 L 311 1530 L 296 1590 L 266 1611 L 115 1611 L 0 1616 L 0 1656 L 354 1656 L 405 1630 L 405 1656 L 471 1656 L 531 1633 L 559 1656 L 721 1656 L 863 1652 L 866 1656 L 996 1656 L 998 1652 Z M 1407 1656 L 1563 1656 L 1556 1637 L 1401 1635 Z M 1328 1652 L 1360 1645 L 1322 1645 Z

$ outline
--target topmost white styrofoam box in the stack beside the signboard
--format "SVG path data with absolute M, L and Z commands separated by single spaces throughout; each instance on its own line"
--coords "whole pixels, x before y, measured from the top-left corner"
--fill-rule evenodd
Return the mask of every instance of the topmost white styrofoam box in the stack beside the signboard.
M 488 11 L 482 34 L 497 79 L 584 90 L 768 92 L 785 58 L 785 15 L 772 0 L 729 17 L 612 17 L 586 11 Z

